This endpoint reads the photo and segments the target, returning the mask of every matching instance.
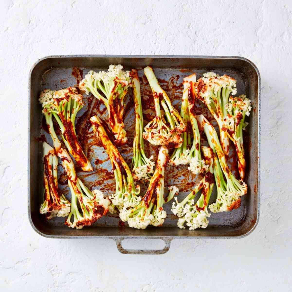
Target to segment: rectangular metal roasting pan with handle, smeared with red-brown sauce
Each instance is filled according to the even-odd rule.
[[[147,103],[147,95],[151,94],[149,85],[143,79],[142,68],[151,65],[161,85],[169,93],[174,105],[178,108],[182,94],[182,79],[195,72],[200,77],[204,72],[214,71],[218,74],[229,74],[237,79],[238,94],[246,94],[251,99],[253,111],[249,117],[248,148],[246,183],[248,193],[242,197],[241,207],[231,212],[212,214],[209,218],[209,226],[206,229],[190,231],[179,229],[177,218],[171,213],[171,203],[165,205],[168,216],[162,227],[148,227],[145,230],[137,230],[121,226],[118,216],[105,216],[91,227],[81,230],[68,228],[64,225],[64,218],[45,220],[39,213],[42,198],[42,161],[41,141],[46,139],[51,145],[49,135],[42,128],[41,105],[38,102],[39,93],[45,88],[60,89],[77,84],[90,70],[106,70],[110,64],[122,64],[124,68],[137,68],[141,77],[142,97],[144,105]],[[85,106],[78,113],[77,132],[85,131],[86,119],[90,114],[104,115],[103,110],[96,99],[84,98]],[[89,102],[88,102],[89,101]],[[143,108],[144,111],[144,108]],[[147,109],[145,110],[147,119]],[[133,137],[133,104],[128,98],[125,109],[125,128],[130,137]],[[257,67],[249,60],[242,57],[223,56],[123,56],[123,55],[67,55],[49,56],[38,60],[29,74],[29,114],[28,114],[28,215],[33,229],[48,238],[110,238],[117,243],[121,253],[131,254],[161,254],[168,251],[172,239],[178,238],[235,238],[244,237],[254,230],[259,218],[259,193],[260,193],[260,74]],[[87,131],[87,130],[86,130]],[[41,138],[40,138],[41,137]],[[109,175],[111,167],[104,150],[91,140],[83,141],[85,152],[94,166],[92,173],[78,171],[78,175],[91,189],[102,188],[105,194],[111,192],[114,180]],[[126,161],[131,161],[131,147],[120,149]],[[98,163],[96,163],[98,159]],[[107,172],[109,171],[109,172]],[[62,168],[60,166],[60,175]],[[168,168],[165,184],[176,183],[180,190],[180,197],[184,197],[192,190],[199,178],[190,175],[185,169]],[[107,187],[104,187],[106,184]],[[61,186],[65,195],[70,198],[67,186]],[[147,187],[147,186],[146,186]],[[216,189],[216,188],[214,188]],[[142,186],[141,193],[145,191]],[[211,201],[215,200],[216,190],[213,192]],[[121,241],[126,238],[155,238],[163,239],[165,247],[162,250],[126,250]]]

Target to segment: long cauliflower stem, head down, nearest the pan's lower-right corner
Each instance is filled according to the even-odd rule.
[[[209,208],[214,213],[231,211],[232,209],[239,208],[241,204],[240,197],[247,193],[247,185],[244,181],[237,180],[230,171],[215,128],[203,115],[198,115],[197,121],[199,122],[201,129],[204,130],[204,133],[206,134],[209,146],[212,148],[214,153],[217,153],[222,172],[226,179],[226,191],[224,193],[222,192],[225,189],[225,184],[223,184],[222,189],[218,190],[216,202],[211,204]],[[217,163],[215,162],[215,165],[216,164]],[[219,177],[218,182],[216,181],[217,186],[218,183],[222,183],[222,178],[220,177],[220,171],[218,168],[219,166],[215,168],[215,177],[217,180]]]

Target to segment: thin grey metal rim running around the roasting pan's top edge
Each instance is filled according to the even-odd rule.
[[[31,75],[34,70],[34,68],[42,61],[46,59],[51,58],[192,58],[192,59],[236,59],[236,60],[242,60],[247,63],[249,63],[253,69],[256,71],[257,77],[258,77],[258,186],[257,186],[257,217],[255,220],[255,223],[253,227],[248,230],[248,232],[241,234],[241,235],[234,235],[234,236],[185,236],[185,235],[171,235],[171,236],[165,236],[165,235],[48,235],[45,234],[34,225],[31,217],[31,205],[30,205],[30,132],[31,132],[31,119],[30,119],[30,113],[31,113],[31,105],[30,105],[30,96],[31,96]],[[119,239],[166,239],[168,241],[172,241],[173,239],[240,239],[248,236],[253,232],[257,225],[260,218],[260,113],[261,113],[261,78],[260,78],[260,72],[258,70],[258,67],[249,59],[241,57],[241,56],[211,56],[211,55],[91,55],[91,54],[81,54],[81,55],[47,55],[43,58],[39,58],[34,64],[32,65],[31,69],[29,70],[29,80],[28,80],[28,143],[27,143],[27,154],[28,154],[28,169],[27,169],[27,215],[29,219],[29,223],[32,226],[32,229],[39,235],[46,237],[46,238],[57,238],[57,239],[72,239],[72,238],[97,238],[97,239],[113,239],[118,244]]]

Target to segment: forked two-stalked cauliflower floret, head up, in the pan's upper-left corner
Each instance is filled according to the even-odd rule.
[[[84,171],[92,171],[92,166],[82,150],[75,131],[75,118],[83,106],[82,95],[77,94],[77,89],[74,87],[58,91],[45,89],[41,92],[39,101],[43,106],[46,124],[56,152],[60,150],[61,143],[55,133],[52,116],[58,122],[65,146],[78,166]]]

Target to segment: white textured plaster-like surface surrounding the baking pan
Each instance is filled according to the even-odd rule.
[[[1,1],[0,291],[291,291],[291,1],[87,2]],[[27,84],[33,63],[54,54],[252,60],[262,79],[256,230],[244,239],[174,240],[161,256],[36,234],[27,217]]]

